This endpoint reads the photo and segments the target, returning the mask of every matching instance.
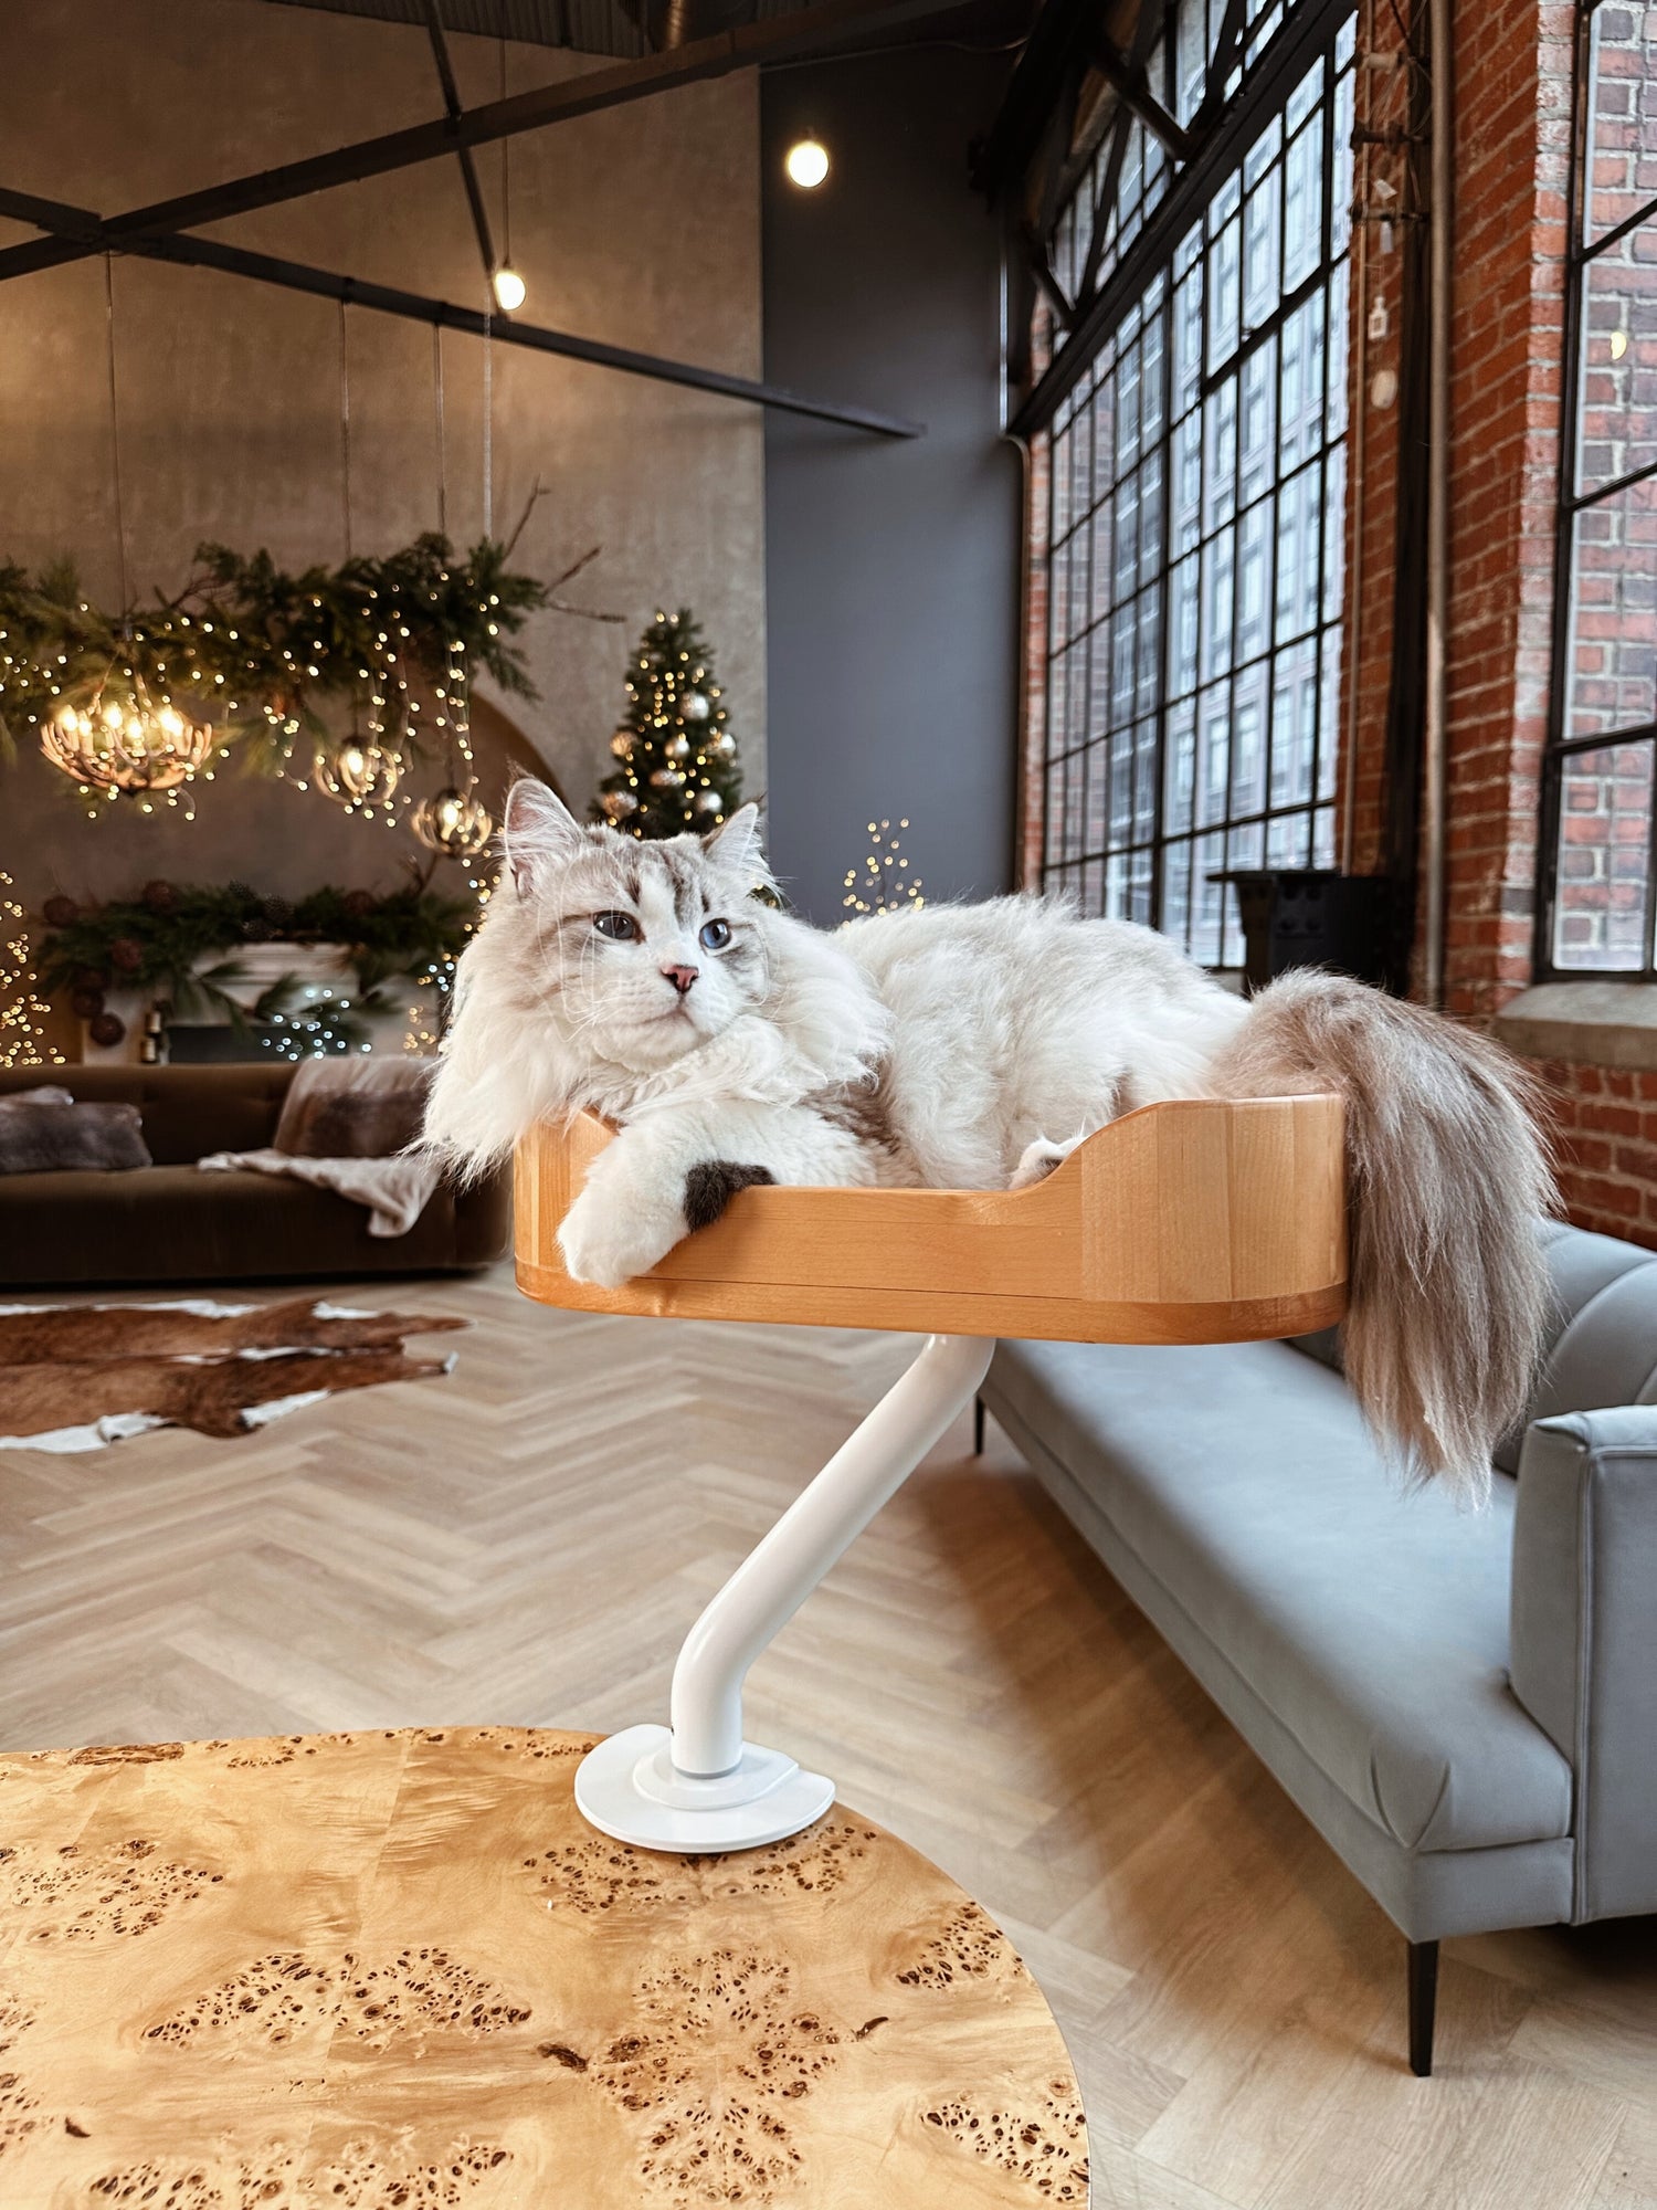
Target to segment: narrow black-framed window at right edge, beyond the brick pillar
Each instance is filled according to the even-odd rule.
[[[1538,966],[1657,979],[1657,13],[1577,9],[1575,113]]]

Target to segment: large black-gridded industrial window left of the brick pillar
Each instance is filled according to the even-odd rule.
[[[1056,223],[1036,365],[1080,343],[1054,301],[1116,276],[1120,312],[1052,413],[1032,526],[1043,880],[1237,966],[1217,877],[1334,857],[1354,20],[1255,7],[1213,86],[1222,13],[1169,9],[1144,66],[1178,124],[1204,73],[1211,110],[1259,104],[1231,166],[1195,155],[1182,203],[1133,119]],[[1136,248],[1158,265],[1120,298]]]

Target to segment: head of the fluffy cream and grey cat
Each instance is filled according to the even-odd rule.
[[[535,778],[506,800],[519,959],[566,1039],[638,1072],[672,1065],[758,1006],[769,884],[758,807],[663,842],[583,829]]]

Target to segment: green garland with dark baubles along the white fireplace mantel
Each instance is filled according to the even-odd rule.
[[[243,979],[236,964],[243,946],[331,944],[356,975],[356,1001],[285,975],[261,994],[252,1014],[294,1030],[285,1056],[356,1048],[362,1041],[360,1017],[387,1010],[389,981],[453,972],[477,913],[477,897],[437,897],[422,882],[384,895],[329,884],[300,899],[261,897],[241,882],[223,888],[148,882],[139,897],[102,906],[49,897],[44,919],[51,935],[40,944],[40,990],[68,990],[80,1019],[93,1023],[93,1039],[119,1043],[119,1014],[104,1003],[110,990],[152,992],[179,1012],[217,1012],[241,1023],[247,1008],[232,990]],[[203,966],[214,955],[223,955],[219,964]],[[104,1034],[97,1023],[104,1023]]]

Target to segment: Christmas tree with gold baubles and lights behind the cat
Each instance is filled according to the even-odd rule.
[[[627,712],[610,738],[619,767],[592,818],[632,835],[718,829],[742,798],[736,738],[714,663],[687,608],[656,614],[627,670]]]

